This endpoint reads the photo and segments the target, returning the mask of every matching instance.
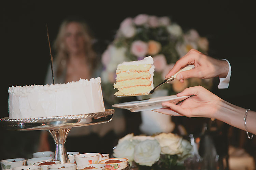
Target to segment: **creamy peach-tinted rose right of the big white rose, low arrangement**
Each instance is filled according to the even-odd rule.
[[[155,136],[161,146],[161,154],[175,155],[182,153],[182,137],[173,133],[161,133]]]

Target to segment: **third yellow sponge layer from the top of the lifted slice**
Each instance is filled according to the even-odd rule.
[[[117,88],[118,90],[120,88],[128,88],[134,86],[151,86],[151,81],[150,79],[131,79],[119,81],[114,84],[114,88]]]

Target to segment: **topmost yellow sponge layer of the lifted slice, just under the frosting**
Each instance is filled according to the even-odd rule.
[[[141,72],[145,72],[150,70],[150,68],[152,67],[151,64],[139,64],[139,65],[122,65],[117,67],[116,70],[116,74],[120,73],[120,72],[126,72],[126,71],[141,71]]]

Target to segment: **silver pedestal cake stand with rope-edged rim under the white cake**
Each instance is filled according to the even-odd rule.
[[[112,120],[113,114],[114,109],[106,109],[105,112],[69,116],[29,119],[9,119],[9,117],[4,117],[0,119],[0,124],[7,130],[48,131],[56,144],[54,160],[59,160],[61,163],[70,163],[65,147],[65,142],[70,129],[109,122]]]

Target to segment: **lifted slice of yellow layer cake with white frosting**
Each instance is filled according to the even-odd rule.
[[[115,96],[145,95],[153,88],[153,58],[145,57],[140,61],[124,62],[117,66]]]

